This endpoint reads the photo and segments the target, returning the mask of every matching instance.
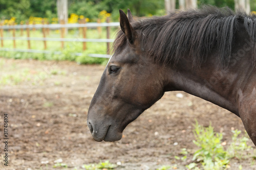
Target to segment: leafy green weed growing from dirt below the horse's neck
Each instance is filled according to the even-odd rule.
[[[196,124],[194,125],[194,135],[196,140],[193,142],[200,148],[194,153],[193,160],[201,162],[203,169],[227,169],[229,159],[236,156],[238,157],[239,151],[249,149],[246,144],[248,138],[243,136],[238,138],[241,131],[232,131],[232,142],[225,150],[222,143],[222,133],[215,133],[214,128],[210,125],[204,128]],[[198,169],[195,162],[186,166],[188,169]]]

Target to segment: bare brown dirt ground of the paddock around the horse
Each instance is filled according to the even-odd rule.
[[[223,132],[244,131],[241,119],[229,111],[184,92],[166,92],[163,98],[126,127],[116,142],[96,142],[86,119],[90,101],[104,66],[74,62],[0,58],[0,133],[8,114],[8,168],[5,143],[0,142],[0,169],[84,169],[82,165],[109,160],[115,169],[186,169],[198,149],[193,143],[195,119]],[[8,76],[9,75],[9,76]],[[2,78],[2,79],[1,79]],[[183,94],[178,98],[177,93]],[[256,169],[253,150],[232,159],[230,169]],[[185,161],[182,148],[188,151]],[[249,155],[249,156],[248,156]],[[61,161],[61,160],[62,161]],[[68,167],[53,167],[56,160]],[[55,161],[55,162],[54,162]]]

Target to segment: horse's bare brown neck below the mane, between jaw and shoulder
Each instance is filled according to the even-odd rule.
[[[170,70],[172,74],[169,76],[168,90],[185,91],[239,116],[239,93],[244,92],[248,81],[254,79],[250,76],[254,69],[238,58],[232,62],[225,69],[218,68],[217,62],[211,61],[201,68],[178,65]]]

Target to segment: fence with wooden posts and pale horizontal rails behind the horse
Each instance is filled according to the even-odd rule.
[[[109,58],[109,48],[110,43],[114,41],[114,39],[110,39],[110,28],[111,27],[118,27],[120,25],[119,22],[110,22],[110,18],[106,19],[106,22],[100,23],[100,22],[89,22],[86,23],[86,21],[80,20],[79,23],[69,23],[64,24],[63,22],[60,22],[59,24],[44,24],[44,21],[42,21],[42,24],[33,24],[29,25],[27,22],[26,25],[10,25],[10,26],[3,26],[0,23],[0,40],[1,40],[1,47],[0,51],[14,51],[14,52],[27,52],[27,53],[44,53],[44,54],[50,54],[51,51],[47,51],[47,41],[59,41],[61,44],[61,48],[64,48],[64,42],[82,42],[82,50],[87,49],[87,42],[100,42],[100,43],[106,43],[107,45],[107,51],[106,54],[89,54],[90,57],[101,57],[101,58]],[[89,39],[87,38],[87,28],[97,28],[97,30],[100,32],[102,27],[106,27],[106,38],[105,39]],[[66,29],[76,29],[78,28],[80,32],[82,33],[82,38],[65,38],[65,30]],[[20,35],[23,36],[24,31],[27,32],[26,37],[17,37],[16,36],[16,30],[20,30]],[[31,30],[41,29],[42,30],[42,37],[30,37]],[[60,38],[50,38],[47,37],[49,35],[49,30],[60,30]],[[12,31],[12,37],[5,37],[4,36],[4,30]],[[12,40],[13,41],[13,48],[4,48],[4,40]],[[27,49],[18,49],[16,48],[16,40],[23,40],[27,41],[28,47]],[[30,41],[43,41],[44,42],[44,50],[33,50],[31,49],[31,42]],[[53,52],[54,54],[61,54],[60,51]],[[82,53],[75,53],[75,55],[80,56]]]

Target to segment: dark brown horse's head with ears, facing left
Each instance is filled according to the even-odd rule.
[[[120,10],[124,39],[106,65],[88,111],[96,141],[120,140],[124,128],[164,93],[164,72],[141,45],[130,10],[127,16]]]

